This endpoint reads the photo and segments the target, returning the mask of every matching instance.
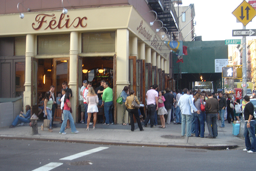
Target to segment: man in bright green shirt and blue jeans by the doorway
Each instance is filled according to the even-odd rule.
[[[104,114],[106,121],[104,125],[114,124],[113,121],[113,90],[109,87],[109,83],[104,83],[104,91],[102,94],[102,105],[104,105]]]

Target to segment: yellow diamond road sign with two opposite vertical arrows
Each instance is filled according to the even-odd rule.
[[[246,26],[256,15],[256,10],[245,0],[232,12]]]

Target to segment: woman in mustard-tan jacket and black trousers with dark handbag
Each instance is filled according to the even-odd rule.
[[[135,101],[135,103],[137,103],[138,105],[140,104],[137,96],[135,96],[134,93],[135,93],[134,90],[130,90],[130,96],[128,96],[125,101],[125,106],[127,107],[127,111],[130,116],[131,131],[134,131],[133,115],[136,118],[137,124],[139,126],[139,130],[144,131],[141,125],[141,120],[139,119],[138,108],[132,107],[132,103],[134,103],[133,101]]]

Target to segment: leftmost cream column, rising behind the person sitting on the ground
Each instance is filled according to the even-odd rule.
[[[26,35],[26,61],[25,61],[25,91],[23,93],[23,106],[31,105],[31,59],[35,56],[35,36],[32,34]],[[36,73],[37,74],[37,73]],[[25,110],[24,110],[25,111]]]

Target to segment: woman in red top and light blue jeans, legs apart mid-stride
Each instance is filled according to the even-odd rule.
[[[65,127],[68,119],[70,121],[71,133],[77,134],[79,132],[75,128],[74,119],[70,113],[70,108],[71,108],[70,97],[71,97],[71,94],[70,92],[67,91],[64,98],[64,108],[63,108],[64,118],[63,118],[62,125],[60,127],[60,134],[66,134],[66,132],[64,131],[65,131]]]

